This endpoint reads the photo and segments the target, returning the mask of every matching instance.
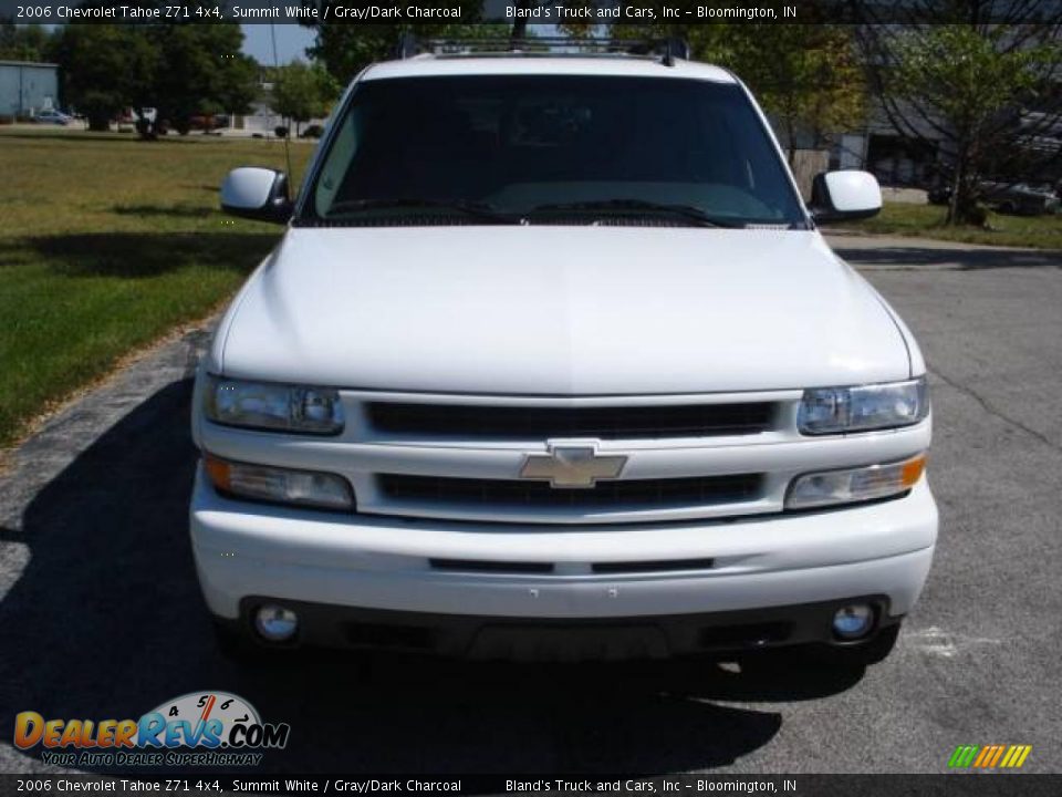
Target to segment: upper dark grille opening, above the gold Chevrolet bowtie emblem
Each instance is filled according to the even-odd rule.
[[[773,402],[664,406],[479,406],[369,402],[377,432],[464,439],[637,439],[751,435],[771,427]]]

